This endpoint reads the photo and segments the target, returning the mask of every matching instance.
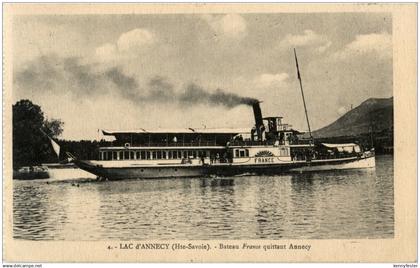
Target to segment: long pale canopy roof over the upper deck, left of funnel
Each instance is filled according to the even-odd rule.
[[[121,134],[247,134],[249,129],[231,129],[231,128],[180,128],[180,129],[136,129],[136,130],[102,130],[103,135],[121,135]]]

